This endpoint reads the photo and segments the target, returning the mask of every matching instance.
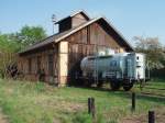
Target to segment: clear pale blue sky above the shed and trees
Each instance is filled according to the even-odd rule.
[[[106,16],[130,43],[134,36],[150,36],[165,44],[165,0],[0,0],[0,32],[40,25],[52,35],[52,14],[61,20],[78,10]]]

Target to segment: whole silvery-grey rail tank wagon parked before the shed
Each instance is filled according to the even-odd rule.
[[[87,56],[81,60],[84,81],[90,86],[97,81],[101,87],[110,82],[112,90],[123,87],[130,90],[136,81],[145,80],[145,55],[142,53],[120,53],[107,56]]]

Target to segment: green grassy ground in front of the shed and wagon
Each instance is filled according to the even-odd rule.
[[[96,99],[97,123],[141,123],[155,110],[157,123],[165,119],[165,80],[155,79],[141,91],[136,85],[136,110],[131,112],[131,91],[57,88],[43,82],[0,79],[0,107],[11,123],[91,123],[87,99]],[[152,94],[150,94],[152,93]],[[131,122],[132,121],[132,122]]]

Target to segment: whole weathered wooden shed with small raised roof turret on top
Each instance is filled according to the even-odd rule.
[[[65,86],[80,76],[80,60],[98,51],[133,52],[128,41],[100,16],[84,11],[56,22],[58,33],[19,53],[19,70],[25,79]]]

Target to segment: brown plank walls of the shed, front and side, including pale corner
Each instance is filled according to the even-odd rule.
[[[19,70],[23,72],[25,79],[32,81],[41,79],[38,74],[41,69],[44,70],[43,81],[58,83],[58,86],[78,82],[75,80],[81,75],[80,62],[85,56],[96,55],[98,51],[108,48],[116,53],[125,52],[127,47],[122,47],[123,45],[121,46],[114,37],[105,31],[101,24],[94,22],[57,43],[52,37],[54,42],[50,45],[23,54],[19,60]],[[53,60],[50,58],[51,55]],[[52,62],[53,69],[50,66]],[[54,70],[53,75],[48,68]]]

